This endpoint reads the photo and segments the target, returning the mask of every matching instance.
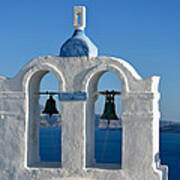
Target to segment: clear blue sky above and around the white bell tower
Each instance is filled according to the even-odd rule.
[[[122,57],[143,78],[161,76],[162,117],[180,121],[179,0],[1,0],[0,75],[13,77],[35,57],[58,55],[73,33],[76,5],[87,8],[86,34],[99,55]]]

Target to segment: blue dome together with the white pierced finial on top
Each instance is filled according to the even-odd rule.
[[[96,57],[98,50],[85,35],[86,9],[83,6],[74,7],[74,34],[61,47],[61,57]]]

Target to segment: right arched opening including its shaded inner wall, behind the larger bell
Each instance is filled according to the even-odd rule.
[[[106,90],[118,92],[122,90],[120,78],[108,70],[96,73],[88,85],[86,167],[120,169],[122,161],[122,103],[120,96],[115,96],[115,111],[119,120],[117,122],[110,120],[110,126],[107,128],[107,120],[100,119],[105,107],[105,97],[94,95],[96,92]]]

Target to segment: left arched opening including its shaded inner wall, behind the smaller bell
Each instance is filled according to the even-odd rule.
[[[48,115],[43,114],[46,95],[37,92],[60,91],[57,75],[47,70],[35,72],[28,84],[28,113],[27,113],[27,145],[26,166],[28,167],[60,167],[61,166],[61,117],[52,115],[52,123]],[[61,106],[57,97],[56,107],[60,112]]]

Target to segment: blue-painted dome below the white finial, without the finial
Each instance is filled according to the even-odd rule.
[[[83,30],[75,30],[73,36],[61,47],[61,57],[97,56],[97,48]]]

